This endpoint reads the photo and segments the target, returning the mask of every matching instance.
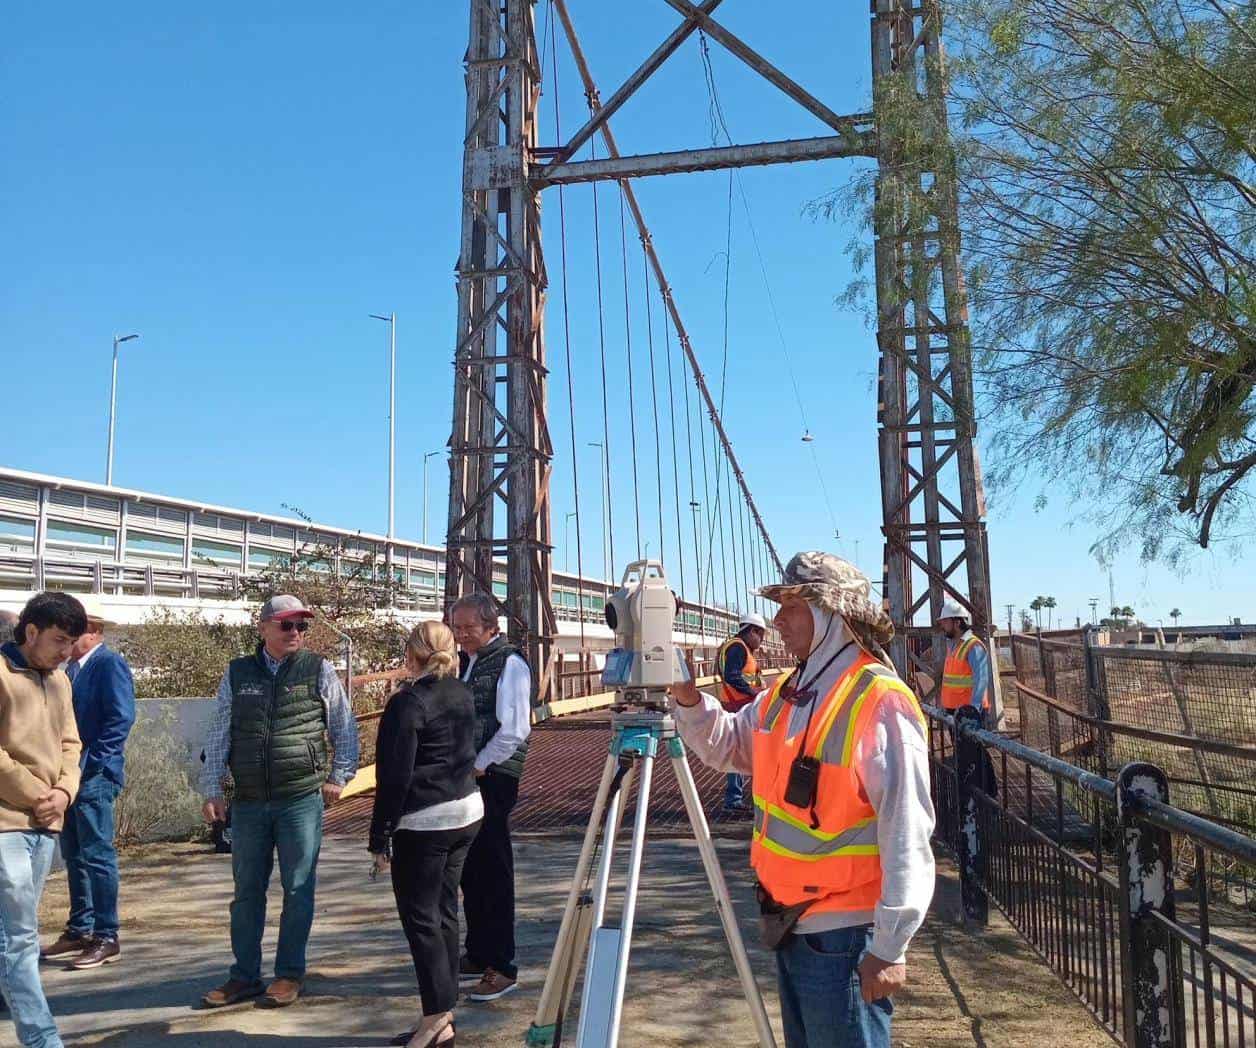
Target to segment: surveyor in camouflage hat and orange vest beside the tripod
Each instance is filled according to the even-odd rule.
[[[858,568],[799,553],[774,623],[798,669],[736,714],[692,682],[673,714],[706,764],[752,772],[750,862],[786,1048],[889,1048],[891,996],[933,897],[924,718]]]

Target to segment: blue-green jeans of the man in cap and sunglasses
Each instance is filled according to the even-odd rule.
[[[236,800],[231,805],[231,978],[261,980],[266,888],[279,851],[284,910],[279,917],[275,978],[305,975],[305,944],[314,924],[314,875],[323,843],[323,793],[291,800]]]

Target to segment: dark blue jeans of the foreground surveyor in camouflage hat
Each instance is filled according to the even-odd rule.
[[[889,998],[865,1004],[859,959],[872,925],[795,935],[776,951],[785,1048],[889,1048]]]

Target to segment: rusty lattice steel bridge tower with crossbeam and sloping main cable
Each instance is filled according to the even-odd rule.
[[[884,200],[893,201],[911,187],[943,202],[937,209],[942,219],[927,227],[908,227],[893,209],[879,207],[875,230],[885,596],[902,631],[893,651],[896,662],[904,672],[913,665],[924,667],[926,606],[934,612],[943,594],[955,596],[972,609],[980,632],[987,633],[990,623],[953,182],[946,172],[904,166],[902,145],[877,133],[872,113],[839,116],[717,23],[712,11],[722,0],[666,3],[682,21],[603,102],[566,0],[553,0],[583,79],[589,116],[566,142],[544,148],[536,123],[541,68],[534,0],[470,3],[446,599],[471,591],[492,593],[494,560],[505,559],[506,597],[501,604],[509,631],[529,652],[541,696],[549,692],[556,628],[550,603],[553,446],[546,425],[546,275],[540,194],[546,186],[561,183],[609,180],[623,188],[723,454],[765,548],[780,567],[698,367],[632,180],[804,160],[875,157]],[[923,6],[908,0],[874,0],[873,69],[878,83],[889,77],[911,83],[929,101],[933,119],[945,121],[939,19],[936,0],[924,0]],[[698,30],[808,111],[824,133],[815,138],[622,156],[610,118]],[[574,160],[594,134],[603,141],[605,158]],[[923,292],[911,290],[922,285],[926,268],[939,274],[941,293],[932,280],[923,280]],[[495,514],[499,503],[505,508],[504,521]],[[917,547],[923,547],[923,555]],[[952,554],[955,547],[958,552]],[[922,591],[919,597],[914,596],[917,589]]]

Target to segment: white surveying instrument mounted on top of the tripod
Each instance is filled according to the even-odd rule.
[[[607,625],[615,647],[607,655],[602,682],[615,690],[615,707],[667,709],[667,689],[690,679],[672,642],[676,594],[658,560],[633,560],[607,601]]]

